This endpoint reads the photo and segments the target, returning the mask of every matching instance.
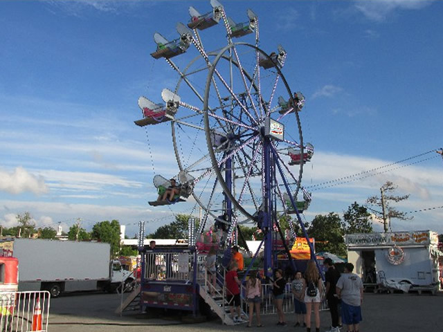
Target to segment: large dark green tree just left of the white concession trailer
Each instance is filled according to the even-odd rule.
[[[307,229],[309,237],[314,237],[316,252],[327,251],[336,255],[346,255],[346,245],[340,216],[329,212],[327,216],[316,215]]]

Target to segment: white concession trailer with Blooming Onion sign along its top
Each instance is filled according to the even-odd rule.
[[[430,230],[347,234],[347,261],[363,283],[409,291],[440,284],[438,234]],[[440,269],[439,269],[440,268]]]

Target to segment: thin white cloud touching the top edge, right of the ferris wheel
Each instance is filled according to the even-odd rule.
[[[355,1],[354,7],[372,21],[384,21],[396,10],[418,10],[433,1],[426,0],[372,0]]]

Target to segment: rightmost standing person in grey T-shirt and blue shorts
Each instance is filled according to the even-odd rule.
[[[363,303],[363,282],[352,273],[354,265],[345,264],[345,272],[338,279],[336,293],[341,299],[341,321],[347,325],[348,332],[359,332],[361,304]]]

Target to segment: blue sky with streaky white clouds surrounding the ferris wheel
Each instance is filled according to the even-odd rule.
[[[315,154],[302,183],[316,185],[307,221],[365,203],[386,181],[410,194],[398,210],[443,205],[443,160],[431,151],[443,146],[441,1],[223,4],[235,21],[254,10],[260,47],[284,46],[284,76],[306,97],[303,139]],[[139,96],[160,102],[161,90],[177,84],[177,73],[150,56],[152,35],[176,38],[188,6],[210,10],[209,1],[0,2],[1,225],[29,211],[37,226],[61,222],[66,231],[79,217],[87,230],[118,219],[133,236],[140,220],[152,232],[174,213],[197,213],[192,203],[147,205],[156,198],[154,174],[175,176],[178,167],[169,124],[134,125]],[[201,32],[212,49],[226,46],[225,35],[221,24]],[[177,64],[191,54],[192,47]],[[392,230],[443,232],[441,208],[410,216],[393,219]]]

